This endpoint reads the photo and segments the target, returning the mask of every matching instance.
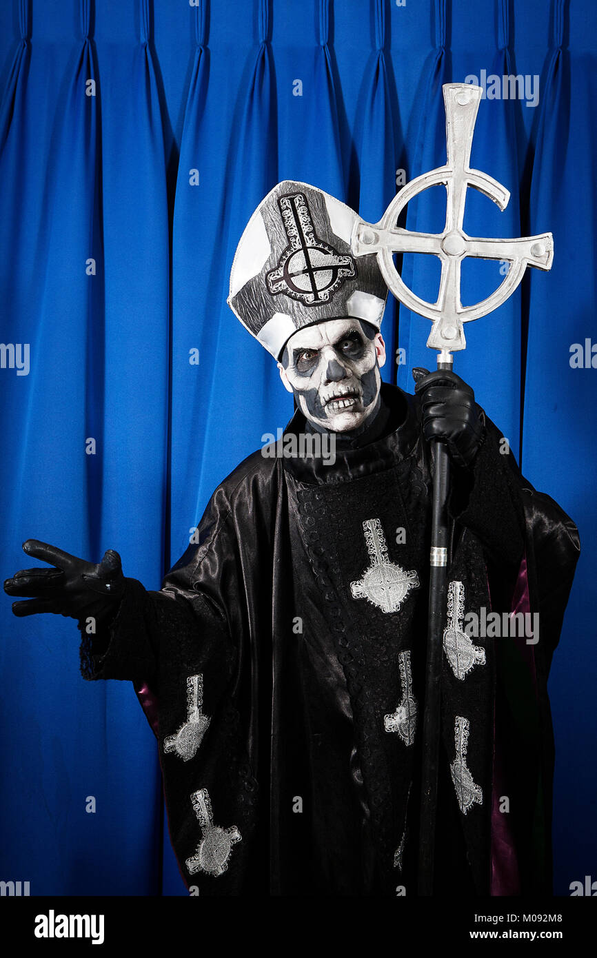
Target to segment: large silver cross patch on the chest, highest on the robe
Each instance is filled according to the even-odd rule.
[[[379,519],[365,519],[363,532],[371,565],[360,581],[351,582],[353,599],[367,599],[382,612],[399,612],[410,590],[419,586],[419,577],[414,569],[405,572],[390,562]]]

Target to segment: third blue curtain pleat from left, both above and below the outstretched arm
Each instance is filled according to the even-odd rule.
[[[125,575],[158,588],[167,519],[170,239],[160,81],[149,0],[139,0],[132,57],[103,70],[103,450],[100,538],[117,548]],[[123,158],[126,157],[126,162]],[[123,417],[126,409],[126,417]],[[149,727],[132,690],[107,683],[106,782],[122,789],[126,867],[119,884],[159,894],[162,792]],[[96,733],[97,735],[97,733]],[[139,850],[143,854],[139,854]],[[143,891],[141,890],[143,889]]]

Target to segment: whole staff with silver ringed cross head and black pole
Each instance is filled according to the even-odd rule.
[[[467,343],[463,323],[484,316],[501,306],[517,288],[527,266],[551,269],[553,238],[551,233],[525,239],[479,239],[463,230],[467,190],[474,187],[489,196],[504,210],[510,194],[487,173],[471,170],[474,124],[481,100],[481,87],[468,83],[447,83],[443,87],[446,106],[447,161],[408,183],[395,196],[379,223],[357,219],[351,237],[353,254],[377,254],[379,269],[391,292],[404,306],[426,316],[433,323],[427,340],[429,349],[438,350],[437,367],[448,371],[452,353],[464,350]],[[417,233],[397,226],[406,204],[430,186],[443,183],[447,191],[446,223],[443,233]],[[403,282],[393,253],[426,253],[437,256],[442,264],[440,290],[435,303],[416,296]],[[487,299],[463,307],[460,294],[461,264],[467,256],[509,262],[504,281]],[[425,675],[425,717],[421,773],[421,815],[419,833],[419,895],[433,894],[435,853],[435,817],[440,741],[440,701],[444,613],[448,566],[449,463],[445,442],[435,441],[433,449],[433,510],[431,514],[431,552],[429,557],[429,604],[427,659]],[[449,647],[448,647],[449,651]],[[480,659],[478,660],[480,663]],[[462,676],[459,676],[462,677]],[[465,719],[463,719],[464,721]],[[464,768],[464,765],[463,765]],[[466,776],[461,776],[463,782]],[[471,794],[476,795],[474,791]],[[474,798],[478,801],[478,798]]]

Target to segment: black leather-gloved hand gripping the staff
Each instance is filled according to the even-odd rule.
[[[485,439],[483,412],[474,401],[471,386],[445,370],[429,373],[415,367],[412,374],[415,394],[421,397],[425,439],[443,439],[457,466],[471,466]]]

